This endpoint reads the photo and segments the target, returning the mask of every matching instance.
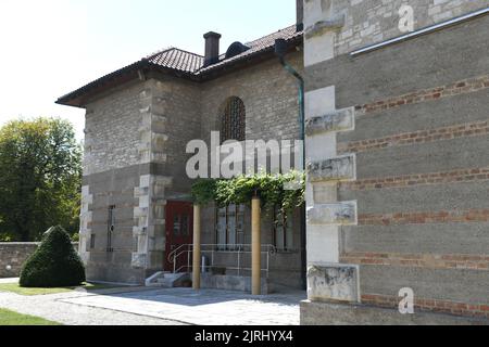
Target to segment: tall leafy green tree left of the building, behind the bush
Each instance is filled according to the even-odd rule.
[[[39,241],[79,224],[82,149],[65,120],[13,120],[0,129],[0,236]]]

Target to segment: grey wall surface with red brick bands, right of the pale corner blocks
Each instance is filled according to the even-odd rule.
[[[376,56],[386,62],[393,51],[426,54],[424,48],[438,42],[435,59],[446,67],[442,80],[430,78],[428,56],[401,74],[423,79],[403,78],[408,93],[393,87],[387,70],[362,76],[371,86],[384,78],[386,89],[367,89],[375,98],[366,103],[363,92],[365,99],[355,106],[356,129],[338,137],[338,151],[356,154],[356,180],[339,185],[340,198],[356,200],[359,206],[358,227],[342,229],[340,261],[360,266],[364,304],[396,308],[397,291],[411,287],[417,310],[488,318],[489,163],[484,149],[489,132],[484,110],[489,83],[482,66],[457,56],[463,37],[482,40],[488,21],[387,48]],[[440,44],[449,39],[450,48]],[[488,46],[472,43],[463,54],[489,67],[484,57]],[[368,60],[355,63],[363,61],[368,69]],[[336,86],[340,98],[348,98],[350,82]],[[354,97],[350,100],[355,104]]]

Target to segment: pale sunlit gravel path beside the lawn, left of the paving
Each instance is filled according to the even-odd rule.
[[[21,296],[0,292],[0,307],[65,325],[183,325],[180,322],[60,301],[97,296],[84,292]]]

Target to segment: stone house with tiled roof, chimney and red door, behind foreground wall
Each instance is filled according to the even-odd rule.
[[[185,245],[192,243],[192,181],[186,146],[191,140],[210,144],[211,131],[221,131],[223,140],[300,138],[297,81],[274,46],[285,39],[288,63],[302,72],[302,31],[293,25],[235,42],[225,54],[220,38],[204,35],[204,56],[171,48],[58,101],[86,108],[79,252],[88,279],[143,284],[160,271],[189,270]],[[263,219],[263,275],[277,288],[302,287],[304,245],[296,215],[287,226]],[[208,207],[202,217],[208,266],[227,269],[237,281],[229,285],[247,288],[249,208]]]

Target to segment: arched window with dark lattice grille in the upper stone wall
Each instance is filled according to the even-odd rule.
[[[246,140],[246,110],[244,103],[237,97],[229,98],[221,116],[222,141]]]

